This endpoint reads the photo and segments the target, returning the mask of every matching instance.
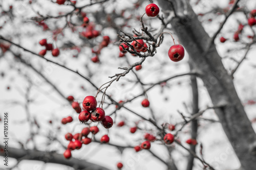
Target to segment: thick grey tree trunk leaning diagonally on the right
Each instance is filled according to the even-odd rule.
[[[178,6],[181,7],[181,1],[176,1],[177,4],[175,1],[172,2],[178,15],[170,23],[193,60],[212,103],[215,106],[226,105],[215,111],[242,167],[246,170],[254,169],[256,167],[256,135],[234,88],[232,78],[224,68],[215,44],[212,44],[204,55],[210,37],[190,5],[183,4],[182,7],[186,9],[182,9],[178,8]],[[159,1],[159,4],[162,9],[172,9],[169,2]]]

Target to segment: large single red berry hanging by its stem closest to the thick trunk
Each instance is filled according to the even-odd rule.
[[[182,60],[184,57],[183,46],[180,44],[171,46],[168,51],[168,56],[169,56],[170,60],[175,61],[175,62]]]

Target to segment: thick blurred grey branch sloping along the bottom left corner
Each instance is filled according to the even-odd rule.
[[[4,146],[0,145],[0,148],[4,148]],[[5,152],[0,153],[1,156],[4,154]],[[46,163],[50,162],[63,164],[74,167],[75,169],[109,170],[108,168],[87,162],[85,160],[76,158],[65,159],[63,155],[57,153],[47,153],[37,150],[24,150],[9,147],[8,154],[9,157],[15,158],[17,160],[39,160]]]

